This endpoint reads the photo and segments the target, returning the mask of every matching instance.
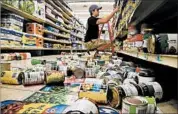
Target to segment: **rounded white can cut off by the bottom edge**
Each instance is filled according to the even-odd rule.
[[[99,109],[93,102],[87,99],[79,99],[72,105],[68,106],[62,113],[99,114]]]

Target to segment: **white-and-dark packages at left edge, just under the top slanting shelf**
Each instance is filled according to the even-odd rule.
[[[2,13],[1,27],[5,27],[12,30],[23,31],[24,18],[13,13]]]

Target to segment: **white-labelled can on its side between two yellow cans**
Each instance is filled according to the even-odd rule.
[[[23,72],[23,85],[43,84],[45,72]]]

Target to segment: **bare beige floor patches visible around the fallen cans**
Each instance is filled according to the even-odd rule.
[[[44,57],[36,57],[38,59],[46,59],[46,60],[55,60],[57,56],[44,56]],[[19,67],[30,67],[31,60],[22,60],[22,61],[12,61],[12,66]],[[31,96],[33,93],[39,91],[45,85],[35,85],[35,86],[27,86],[23,85],[5,85],[0,84],[0,100],[19,100],[22,101],[27,97]],[[169,102],[159,103],[158,107],[163,113],[178,113],[177,103],[172,100]]]

